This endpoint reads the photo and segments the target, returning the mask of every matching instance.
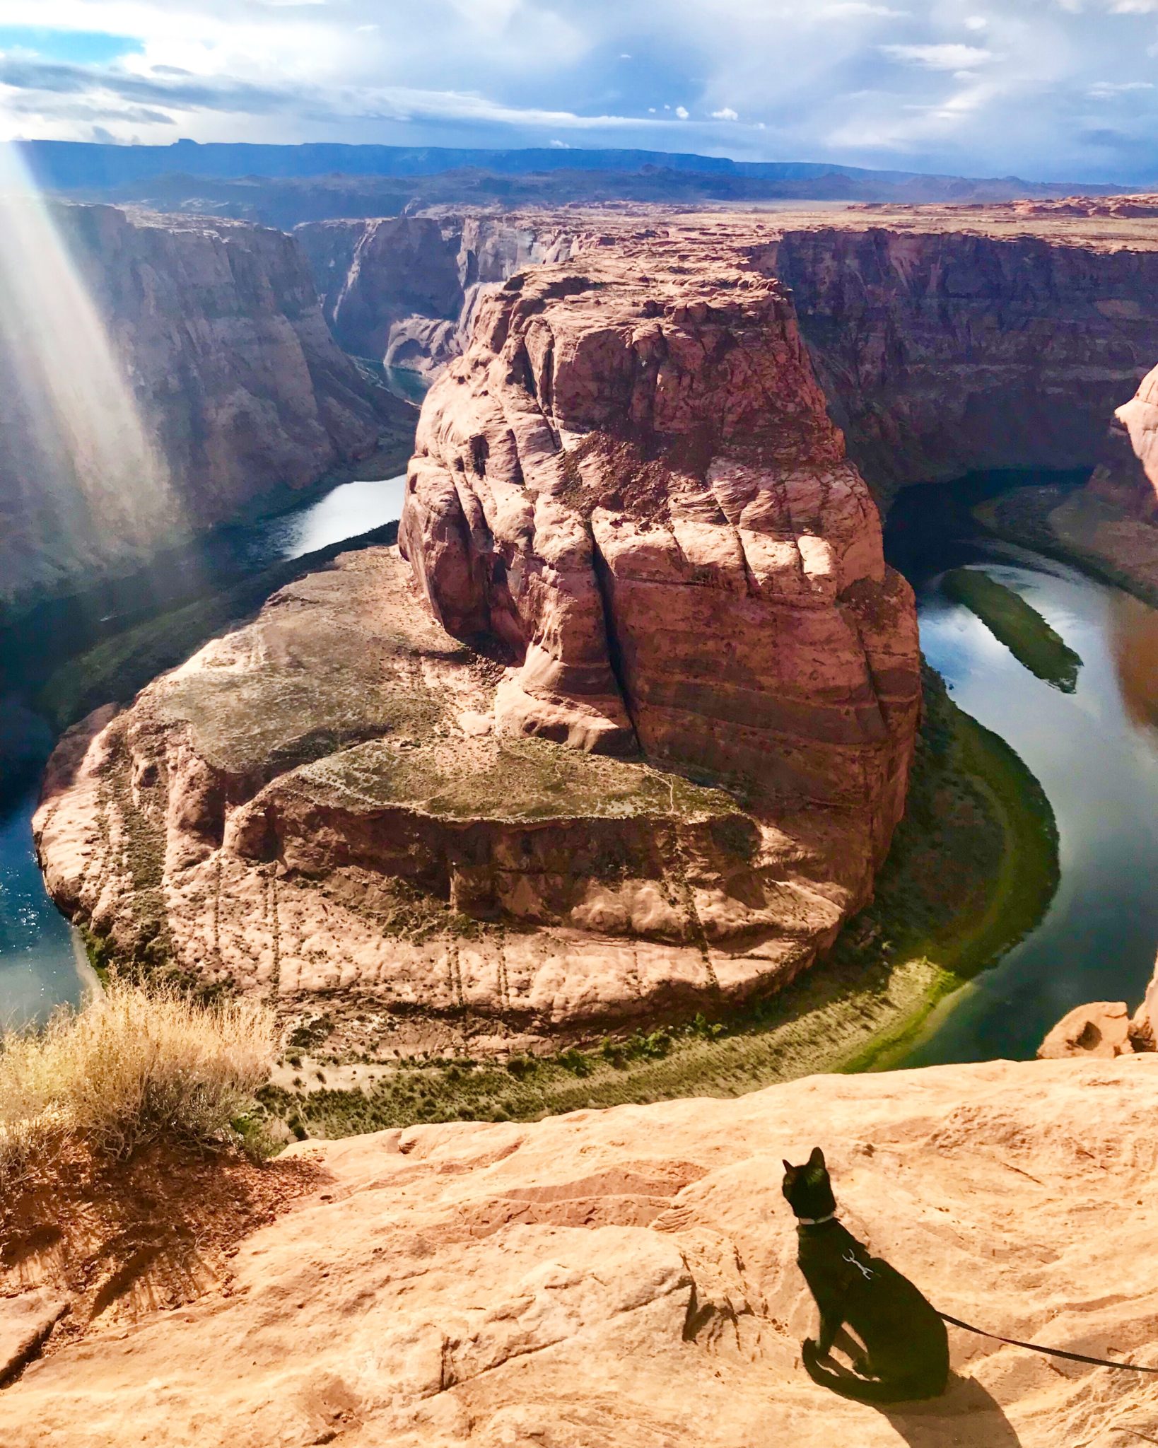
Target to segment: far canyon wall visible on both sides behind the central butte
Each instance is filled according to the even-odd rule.
[[[792,209],[735,229],[790,288],[832,417],[886,498],[979,468],[1094,465],[1106,417],[1158,355],[1152,206],[1126,201]],[[469,333],[472,275],[618,245],[640,214],[659,235],[690,220],[431,211],[297,235],[343,346],[431,376]]]

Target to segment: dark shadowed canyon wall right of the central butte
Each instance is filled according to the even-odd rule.
[[[1093,224],[1093,223],[1087,223]],[[874,489],[981,468],[1093,466],[1158,355],[1158,252],[960,229],[786,230],[816,374]],[[976,227],[976,230],[974,230]],[[1152,242],[1151,242],[1152,245]]]

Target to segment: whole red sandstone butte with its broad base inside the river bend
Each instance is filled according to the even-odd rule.
[[[400,540],[417,588],[352,555],[62,741],[35,831],[74,919],[479,1048],[832,943],[903,809],[916,618],[758,237],[488,292]]]

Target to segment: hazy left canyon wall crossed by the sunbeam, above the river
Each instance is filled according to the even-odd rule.
[[[0,320],[0,601],[139,563],[405,437],[262,227],[20,204]]]

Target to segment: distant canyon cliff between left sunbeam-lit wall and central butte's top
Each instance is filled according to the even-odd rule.
[[[485,288],[566,261],[580,240],[550,220],[439,211],[307,222],[294,235],[342,346],[423,376],[462,352]]]

